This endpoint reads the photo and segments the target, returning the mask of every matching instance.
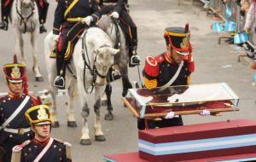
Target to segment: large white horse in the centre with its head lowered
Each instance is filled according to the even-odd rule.
[[[55,59],[50,59],[49,55],[53,48],[53,33],[49,32],[44,39],[45,60],[47,63],[49,73],[49,83],[53,90],[53,107],[55,123],[57,120],[56,113],[56,93],[57,89],[53,86],[56,77]],[[86,46],[86,47],[85,47]],[[69,95],[69,104],[67,108],[68,126],[76,126],[73,115],[73,103],[75,99],[79,99],[82,107],[83,129],[80,143],[82,145],[90,145],[90,136],[88,130],[87,118],[90,113],[88,107],[88,90],[94,86],[95,89],[95,104],[94,112],[96,113],[94,128],[96,130],[96,141],[105,141],[105,136],[102,132],[100,122],[100,107],[102,100],[102,93],[106,85],[106,75],[109,67],[113,64],[113,55],[119,52],[118,49],[112,48],[113,43],[108,37],[107,33],[103,32],[98,27],[90,27],[84,34],[83,38],[79,38],[78,43],[73,50],[73,57],[68,65],[72,72],[67,70],[66,73],[66,87]],[[84,54],[83,54],[84,53]],[[88,66],[87,66],[87,65]],[[74,75],[75,77],[74,77]],[[77,93],[79,91],[79,94]]]

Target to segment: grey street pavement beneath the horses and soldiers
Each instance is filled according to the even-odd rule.
[[[191,43],[193,45],[193,55],[195,60],[195,72],[191,75],[192,84],[210,84],[225,82],[240,97],[240,111],[232,113],[222,113],[221,116],[201,117],[200,115],[183,116],[184,124],[198,124],[213,121],[224,121],[228,119],[255,119],[256,110],[256,87],[252,85],[253,71],[245,60],[237,62],[237,53],[230,52],[237,50],[236,45],[229,43],[218,44],[218,35],[210,29],[213,22],[212,16],[207,16],[205,12],[198,12],[203,4],[195,2],[191,4],[190,0],[181,1],[178,5],[177,0],[129,0],[130,13],[137,23],[138,49],[137,53],[141,56],[143,69],[144,60],[147,55],[159,55],[166,49],[163,38],[164,29],[167,26],[184,26],[189,23],[191,34]],[[49,14],[46,26],[51,30],[54,20],[54,10],[56,3],[50,1]],[[14,32],[9,26],[8,32],[0,32],[0,64],[9,63],[15,53]],[[46,34],[40,34],[38,37],[39,66],[44,76],[44,82],[34,81],[32,73],[32,56],[30,39],[28,35],[25,38],[25,51],[27,56],[27,75],[29,90],[38,91],[49,88],[47,71],[44,61],[44,37]],[[129,68],[131,82],[139,80],[137,67]],[[6,92],[5,78],[3,72],[0,72],[0,90]],[[90,118],[90,137],[92,143],[90,146],[79,144],[81,136],[81,107],[79,103],[75,107],[75,115],[78,122],[77,128],[67,128],[67,95],[58,97],[58,115],[61,124],[60,128],[52,130],[52,136],[60,138],[63,141],[70,142],[73,145],[72,154],[75,162],[100,162],[103,161],[103,155],[113,153],[125,153],[137,151],[137,119],[134,118],[121,100],[122,84],[116,81],[113,84],[113,121],[105,121],[102,118],[102,130],[107,138],[106,142],[94,141],[93,130],[93,96],[89,96]],[[102,107],[102,117],[107,113],[106,107]]]

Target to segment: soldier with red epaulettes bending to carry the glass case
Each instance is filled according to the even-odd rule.
[[[144,86],[148,89],[161,86],[187,85],[194,72],[192,46],[189,43],[189,25],[167,27],[165,30],[166,52],[155,57],[148,56],[143,70]],[[183,125],[181,116],[173,112],[161,120],[138,119],[138,129]]]

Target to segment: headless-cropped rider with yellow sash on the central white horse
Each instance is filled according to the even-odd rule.
[[[84,29],[88,26],[94,25],[101,17],[102,14],[95,0],[58,1],[57,8],[55,9],[55,20],[53,25],[54,39],[57,40],[59,38],[56,50],[57,77],[55,78],[55,87],[65,89],[66,62],[64,61],[64,56],[66,55],[67,48],[69,49],[71,46],[74,46],[74,43],[78,40],[77,36],[83,33]],[[81,21],[86,26],[84,28],[82,26],[82,30],[78,29],[71,32],[73,26]],[[78,23],[78,26],[76,27],[79,27],[80,25],[81,23]],[[74,38],[69,40],[67,38],[67,33],[70,35],[73,33]]]

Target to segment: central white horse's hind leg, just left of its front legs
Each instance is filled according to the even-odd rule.
[[[73,78],[72,78],[73,79]],[[70,103],[67,107],[67,126],[68,127],[77,127],[76,120],[74,118],[73,103],[77,96],[77,82],[76,80],[71,82],[71,86],[68,88],[68,96]]]

